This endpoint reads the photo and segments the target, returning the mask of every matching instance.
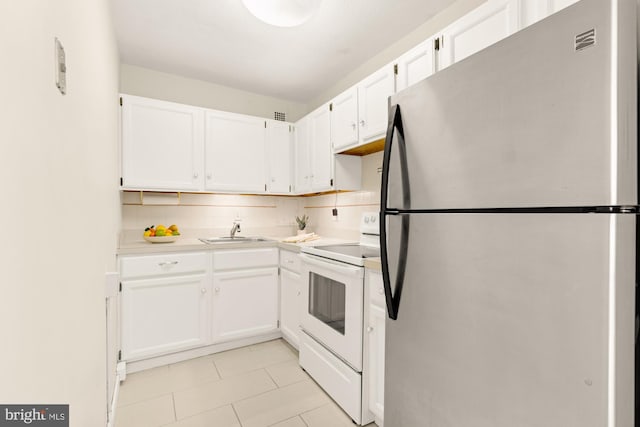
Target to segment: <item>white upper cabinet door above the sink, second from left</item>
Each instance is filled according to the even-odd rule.
[[[258,117],[207,111],[206,190],[266,191],[265,127]]]

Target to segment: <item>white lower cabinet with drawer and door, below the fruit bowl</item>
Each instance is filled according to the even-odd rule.
[[[123,360],[208,344],[211,277],[206,260],[206,254],[198,253],[139,256],[121,262]],[[144,271],[139,265],[148,268]]]

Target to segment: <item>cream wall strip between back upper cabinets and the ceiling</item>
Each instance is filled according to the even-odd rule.
[[[286,113],[290,122],[302,117],[307,109],[304,104],[128,64],[120,66],[120,90],[129,95],[268,119],[278,111]]]

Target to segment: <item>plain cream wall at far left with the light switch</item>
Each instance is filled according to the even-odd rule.
[[[0,36],[0,402],[68,403],[71,426],[104,426],[104,273],[119,229],[109,1],[3,1]]]

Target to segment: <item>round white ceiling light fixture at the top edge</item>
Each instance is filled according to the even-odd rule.
[[[242,0],[256,18],[277,27],[296,27],[307,22],[322,0]]]

